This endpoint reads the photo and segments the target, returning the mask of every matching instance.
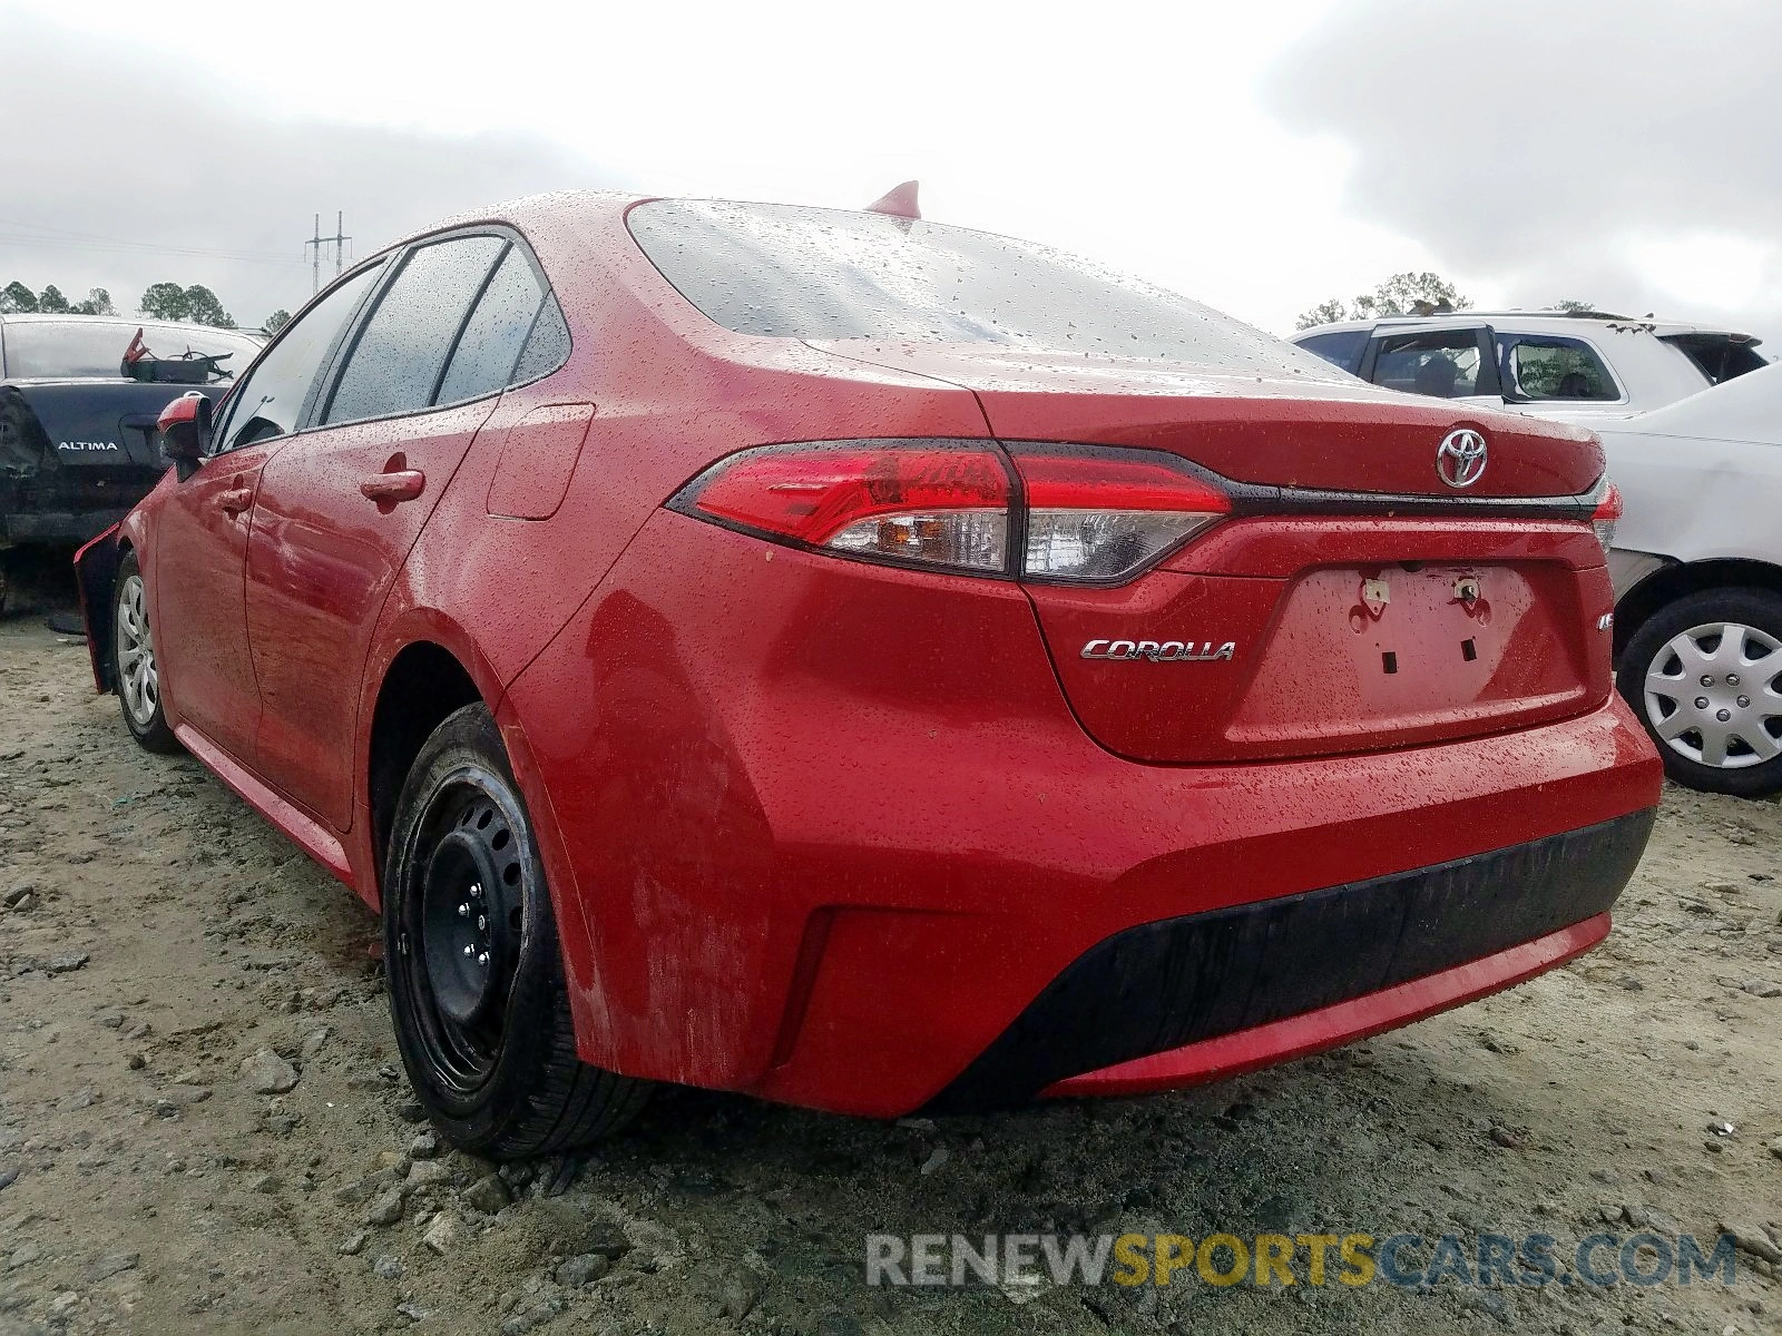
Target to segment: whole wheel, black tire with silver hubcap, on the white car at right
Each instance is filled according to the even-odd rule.
[[[1666,604],[1627,643],[1616,686],[1679,784],[1782,791],[1782,597],[1727,588]]]

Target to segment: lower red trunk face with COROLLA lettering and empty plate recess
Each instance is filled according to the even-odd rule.
[[[1139,761],[1472,737],[1611,688],[1614,595],[1575,520],[1238,518],[1132,584],[1028,595],[1076,718]]]

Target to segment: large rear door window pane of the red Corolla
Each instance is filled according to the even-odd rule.
[[[412,251],[360,330],[323,422],[431,404],[470,303],[506,246],[501,237],[456,237]]]

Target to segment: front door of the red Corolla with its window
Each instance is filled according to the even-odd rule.
[[[223,404],[210,458],[157,513],[148,581],[168,698],[180,721],[244,764],[260,723],[242,600],[255,488],[378,269],[351,274],[280,333]]]

